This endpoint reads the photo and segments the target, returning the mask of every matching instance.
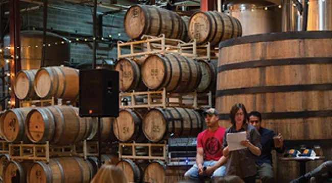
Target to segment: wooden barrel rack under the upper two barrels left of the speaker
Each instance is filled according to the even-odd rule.
[[[54,106],[55,104],[59,104],[61,101],[61,104],[63,105],[72,105],[76,107],[76,102],[75,101],[69,101],[69,100],[62,100],[61,98],[58,98],[55,100],[54,97],[50,99],[39,99],[39,100],[20,100],[19,101],[19,107],[30,107],[30,106],[40,106],[40,107],[45,107],[45,106]]]

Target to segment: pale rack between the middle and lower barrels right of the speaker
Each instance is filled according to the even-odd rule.
[[[146,102],[136,102],[136,98],[144,98]],[[124,98],[130,98],[130,103],[125,106],[122,101]],[[199,98],[204,97],[206,100],[204,103],[199,102]],[[212,94],[209,93],[167,93],[163,88],[159,91],[146,91],[146,92],[130,92],[120,93],[120,108],[167,108],[167,107],[183,107],[183,108],[211,108],[212,107]]]

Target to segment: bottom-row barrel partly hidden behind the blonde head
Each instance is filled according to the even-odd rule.
[[[135,162],[124,159],[118,162],[116,166],[125,172],[128,182],[138,183],[143,180],[143,170]]]

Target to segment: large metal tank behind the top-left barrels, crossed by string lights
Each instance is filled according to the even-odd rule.
[[[4,45],[9,45],[9,35],[4,38]],[[42,58],[43,32],[21,31],[20,34],[21,69],[39,69]],[[63,41],[63,43],[62,43]],[[51,46],[48,46],[48,44]],[[55,43],[57,43],[55,45]],[[30,47],[29,47],[30,46]],[[38,46],[38,47],[36,47]],[[62,36],[46,34],[46,55],[44,67],[59,66],[70,61],[70,44]]]

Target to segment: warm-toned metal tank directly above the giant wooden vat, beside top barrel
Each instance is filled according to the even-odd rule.
[[[224,13],[238,18],[242,24],[242,35],[264,34],[281,31],[281,11],[266,1],[227,1]],[[280,23],[278,23],[280,22]]]

